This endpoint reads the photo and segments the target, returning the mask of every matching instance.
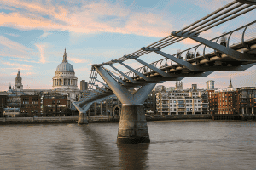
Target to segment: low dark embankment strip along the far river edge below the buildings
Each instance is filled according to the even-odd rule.
[[[166,115],[146,116],[147,122],[209,122],[217,120],[255,120],[254,115]],[[0,117],[0,125],[5,124],[42,124],[42,123],[78,123],[79,116],[54,117]],[[119,122],[119,117],[90,116],[89,123]]]

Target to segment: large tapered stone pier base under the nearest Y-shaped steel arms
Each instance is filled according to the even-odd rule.
[[[117,143],[150,143],[143,105],[122,106]]]

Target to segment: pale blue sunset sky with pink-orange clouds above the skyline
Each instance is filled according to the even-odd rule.
[[[131,54],[230,2],[1,0],[0,91],[8,90],[10,82],[12,86],[15,85],[18,69],[25,89],[52,88],[52,77],[62,61],[64,48],[67,48],[68,62],[73,65],[79,82],[88,82],[91,65]],[[255,20],[255,15],[253,10],[202,33],[201,37],[218,37],[223,32]],[[196,44],[186,39],[163,48],[163,51],[175,54],[178,49],[184,50]],[[153,62],[162,58],[157,54],[147,54],[140,59]],[[140,66],[132,59],[125,62],[133,68]],[[128,71],[115,65],[121,71]],[[242,72],[214,72],[201,78],[184,78],[183,87],[189,88],[191,84],[197,83],[198,88],[206,88],[208,80],[214,80],[216,88],[227,87],[230,75],[236,88],[255,86],[255,68],[253,66]],[[163,85],[173,87],[175,82],[165,82]]]

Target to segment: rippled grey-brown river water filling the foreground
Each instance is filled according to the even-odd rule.
[[[118,123],[0,125],[0,169],[256,169],[255,122],[148,122],[150,144],[117,145]]]

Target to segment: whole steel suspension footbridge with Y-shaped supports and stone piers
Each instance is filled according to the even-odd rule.
[[[88,123],[86,111],[90,105],[115,95],[122,103],[117,143],[149,143],[143,102],[156,83],[180,81],[185,77],[207,77],[213,71],[245,71],[256,65],[256,20],[211,40],[200,36],[201,32],[227,25],[227,21],[255,8],[256,0],[236,0],[179,31],[172,31],[169,36],[147,47],[119,59],[91,65],[89,88],[83,98],[73,101],[79,111],[79,124]],[[161,50],[186,38],[199,42],[199,45],[177,54],[166,54]],[[161,55],[164,59],[150,64],[139,59],[150,53]],[[133,69],[124,63],[129,59],[143,66]],[[114,64],[118,64],[118,67]],[[120,66],[130,71],[124,73],[118,69]],[[103,88],[97,86],[96,82],[102,84]],[[134,88],[138,88],[137,91],[131,90]]]

